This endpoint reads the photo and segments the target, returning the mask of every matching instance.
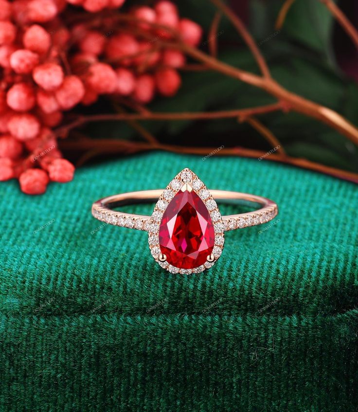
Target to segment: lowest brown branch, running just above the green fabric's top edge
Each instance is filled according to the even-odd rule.
[[[130,152],[143,152],[149,150],[166,150],[174,153],[188,153],[188,154],[197,154],[205,156],[208,153],[211,153],[216,148],[213,147],[183,147],[183,146],[172,146],[172,145],[163,145],[157,144],[155,146],[150,145],[146,142],[131,142],[127,140],[112,140],[112,139],[81,139],[78,141],[74,140],[61,140],[60,142],[61,150],[100,150],[101,154],[113,154],[113,153],[123,153]],[[215,156],[242,156],[249,158],[259,159],[266,153],[262,150],[252,150],[245,149],[241,147],[235,148],[223,148],[215,154]],[[264,161],[273,161],[273,162],[282,162],[288,165],[297,166],[303,169],[314,170],[320,173],[328,174],[343,180],[354,182],[358,184],[358,174],[348,172],[346,170],[331,168],[319,163],[311,162],[302,158],[290,157],[287,155],[282,155],[279,153],[272,153],[269,156],[264,158]]]

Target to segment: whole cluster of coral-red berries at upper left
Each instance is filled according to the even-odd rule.
[[[124,1],[0,0],[0,180],[18,178],[28,194],[72,180],[53,129],[80,103],[105,94],[145,104],[177,93],[185,56],[156,39],[197,46],[200,26],[180,19],[171,1],[126,14]]]

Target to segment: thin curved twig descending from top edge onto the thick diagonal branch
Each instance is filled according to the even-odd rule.
[[[215,6],[233,23],[236,30],[239,32],[241,37],[244,39],[245,43],[248,45],[251,50],[252,55],[255,57],[258,66],[264,77],[270,78],[269,67],[266,64],[264,56],[262,56],[255,40],[252,38],[251,34],[245,27],[245,24],[241,19],[221,0],[210,0]]]

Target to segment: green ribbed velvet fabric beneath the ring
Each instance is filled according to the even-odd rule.
[[[90,214],[184,167],[279,205],[275,225],[228,232],[198,275],[162,270],[145,232]],[[152,153],[79,169],[43,196],[15,181],[0,195],[1,412],[356,411],[357,186],[255,159]]]

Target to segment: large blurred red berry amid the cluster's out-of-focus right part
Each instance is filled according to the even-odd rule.
[[[131,64],[131,58],[125,56],[135,55],[139,52],[139,44],[135,37],[121,33],[111,37],[106,46],[106,56],[112,60],[121,60],[121,64],[128,66]]]

